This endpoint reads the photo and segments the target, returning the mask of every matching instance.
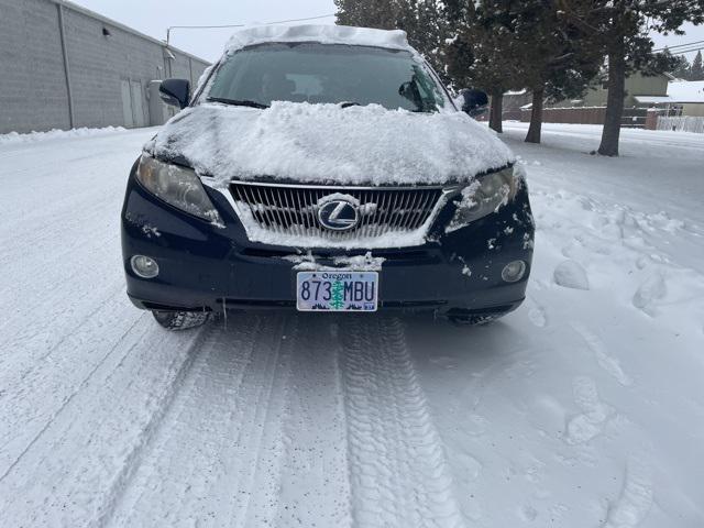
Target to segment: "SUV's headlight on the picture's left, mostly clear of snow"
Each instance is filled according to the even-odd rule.
[[[162,163],[143,154],[136,169],[136,179],[166,204],[209,222],[222,223],[195,170]]]

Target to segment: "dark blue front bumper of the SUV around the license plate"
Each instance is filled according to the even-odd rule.
[[[285,256],[306,249],[249,241],[228,200],[207,188],[224,221],[213,227],[158,200],[130,175],[122,210],[122,254],[128,295],[151,310],[295,308],[295,264]],[[433,310],[441,314],[503,314],[525,297],[532,261],[534,223],[526,189],[498,212],[451,233],[438,231],[453,212],[448,205],[431,228],[435,241],[421,246],[373,250],[384,257],[380,309]],[[332,266],[334,256],[367,250],[314,250],[316,262]],[[160,275],[138,277],[132,255],[155,258]],[[522,260],[524,278],[508,284],[502,270]]]

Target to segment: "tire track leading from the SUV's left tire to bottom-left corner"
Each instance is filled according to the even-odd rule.
[[[0,518],[91,526],[177,394],[201,332],[138,323],[119,340],[0,481]]]

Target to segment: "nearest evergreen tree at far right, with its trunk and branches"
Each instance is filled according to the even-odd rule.
[[[579,25],[593,42],[601,42],[608,61],[606,118],[598,153],[618,155],[626,76],[651,68],[653,43],[649,34],[683,34],[686,22],[704,22],[703,0],[593,0],[575,8],[573,0],[557,0],[561,16]],[[579,9],[582,8],[582,9]]]

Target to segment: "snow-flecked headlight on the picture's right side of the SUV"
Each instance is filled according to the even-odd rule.
[[[479,177],[464,187],[457,202],[454,218],[448,226],[448,231],[463,228],[470,222],[498,211],[516,197],[521,177],[519,170],[514,174],[514,167],[498,173]]]

